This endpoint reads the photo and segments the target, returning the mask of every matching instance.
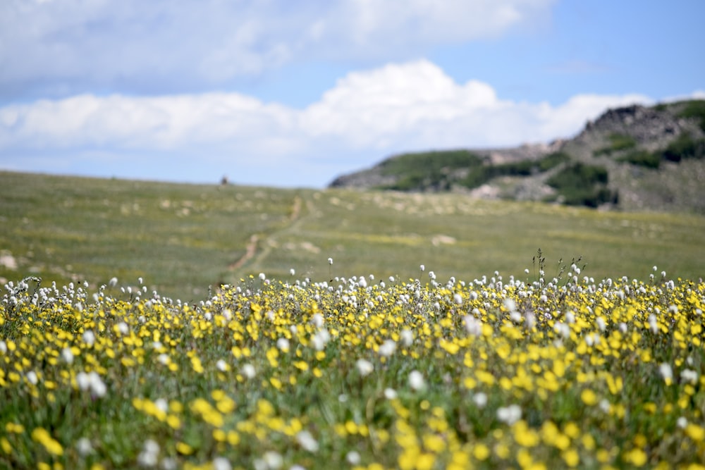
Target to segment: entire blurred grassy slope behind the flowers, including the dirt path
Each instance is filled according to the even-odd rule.
[[[253,239],[253,235],[255,238]],[[253,242],[254,240],[254,242]],[[253,251],[243,264],[237,264]],[[0,172],[0,277],[44,283],[112,276],[183,300],[257,273],[378,280],[515,275],[583,256],[595,278],[705,277],[705,218],[484,201],[462,194],[279,190]],[[333,258],[333,265],[326,261]],[[529,275],[524,269],[529,268]]]

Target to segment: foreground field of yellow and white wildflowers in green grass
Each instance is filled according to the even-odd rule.
[[[705,468],[705,283],[428,275],[10,283],[0,466]]]

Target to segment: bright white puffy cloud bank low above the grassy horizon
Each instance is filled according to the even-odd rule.
[[[235,93],[83,94],[0,108],[0,167],[16,168],[17,155],[90,155],[85,161],[96,168],[150,155],[184,180],[210,162],[218,173],[249,168],[257,183],[290,185],[296,174],[304,175],[298,185],[321,186],[399,151],[570,137],[610,106],[650,101],[639,94],[580,94],[560,106],[504,100],[491,85],[458,84],[426,60],[350,73],[305,109]],[[28,161],[25,169],[32,170]]]

